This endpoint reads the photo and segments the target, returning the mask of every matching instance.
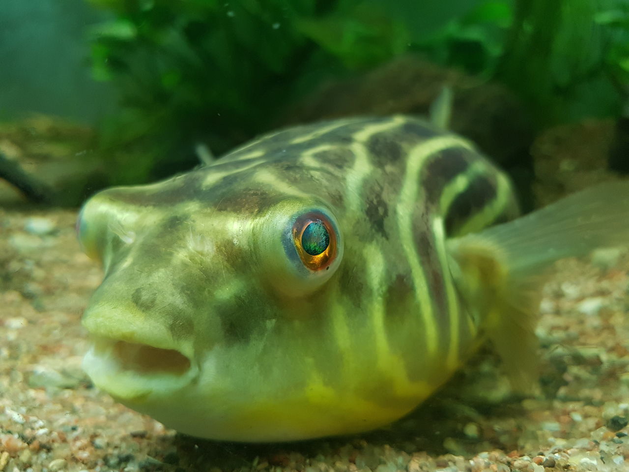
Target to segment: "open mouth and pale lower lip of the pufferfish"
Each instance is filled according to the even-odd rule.
[[[83,369],[94,385],[122,403],[178,390],[198,374],[192,358],[176,349],[92,335]]]

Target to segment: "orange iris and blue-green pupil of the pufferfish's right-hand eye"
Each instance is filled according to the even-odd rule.
[[[299,216],[292,225],[292,241],[301,262],[313,272],[329,269],[337,255],[337,232],[318,211]]]

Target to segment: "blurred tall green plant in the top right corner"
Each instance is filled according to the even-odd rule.
[[[629,93],[626,0],[519,0],[496,78],[540,124],[618,116]]]

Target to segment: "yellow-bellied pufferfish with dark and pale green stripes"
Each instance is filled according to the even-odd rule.
[[[516,216],[503,172],[410,116],[297,126],[106,189],[77,223],[105,273],[84,369],[128,407],[228,441],[389,424],[487,339],[526,385],[540,274],[626,243],[629,184]]]

